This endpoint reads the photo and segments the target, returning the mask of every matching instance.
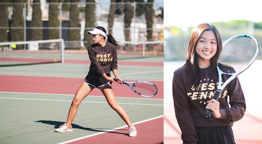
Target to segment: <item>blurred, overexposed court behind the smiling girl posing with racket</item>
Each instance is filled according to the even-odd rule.
[[[173,108],[172,78],[173,71],[184,62],[164,62],[164,143],[183,143]],[[246,113],[232,127],[237,144],[262,143],[262,112],[260,93],[262,77],[260,77],[261,60],[256,60],[250,68],[239,75],[239,81],[246,99]]]

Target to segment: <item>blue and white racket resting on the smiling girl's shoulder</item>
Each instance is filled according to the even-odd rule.
[[[236,35],[223,43],[223,49],[216,64],[219,85],[213,99],[217,101],[226,85],[253,63],[258,55],[258,49],[256,39],[249,35]],[[221,85],[222,75],[231,76],[223,85]],[[206,110],[204,116],[209,118],[211,112],[209,109]]]

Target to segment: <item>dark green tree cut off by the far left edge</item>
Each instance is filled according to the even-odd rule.
[[[7,3],[7,0],[2,1]],[[0,5],[0,27],[8,27],[8,5]],[[0,29],[0,42],[7,41],[8,29]]]

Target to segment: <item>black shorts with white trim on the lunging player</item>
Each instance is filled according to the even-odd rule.
[[[106,74],[106,76],[111,77],[110,74]],[[103,76],[100,76],[98,74],[90,74],[90,73],[88,74],[88,76],[85,77],[84,82],[94,88],[100,88],[106,84],[111,83],[105,80]]]

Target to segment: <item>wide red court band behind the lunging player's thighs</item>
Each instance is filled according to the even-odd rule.
[[[83,80],[83,78],[0,75],[0,91],[75,94]],[[163,82],[150,82],[158,87],[158,94],[151,98],[163,99]],[[134,94],[134,91],[124,84],[114,83],[112,87],[118,89],[114,91],[116,97],[142,98],[142,96]],[[94,89],[90,95],[102,96],[102,93],[99,89]]]

